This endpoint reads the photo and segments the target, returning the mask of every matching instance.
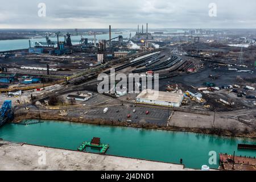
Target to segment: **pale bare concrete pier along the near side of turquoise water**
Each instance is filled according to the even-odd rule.
[[[183,165],[0,141],[0,171],[190,171]]]

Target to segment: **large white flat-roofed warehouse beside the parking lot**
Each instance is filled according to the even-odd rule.
[[[156,92],[154,90],[143,90],[136,101],[142,104],[180,107],[184,98],[183,93]]]

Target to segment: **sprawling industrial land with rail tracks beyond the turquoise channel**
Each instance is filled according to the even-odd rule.
[[[120,35],[109,40],[95,35],[72,44],[67,36],[65,42],[48,38],[25,51],[2,53],[0,105],[12,102],[10,122],[50,119],[256,137],[255,66],[250,59],[234,59],[239,55],[227,43],[216,48],[186,36],[154,39],[139,30],[125,41]],[[134,44],[139,48],[132,48]],[[114,78],[114,84],[104,85],[108,92],[100,93],[98,77],[111,79],[112,69],[114,76],[122,74],[128,82],[118,90],[120,79]],[[159,80],[160,97],[151,92],[154,86],[143,85],[143,79],[153,85]]]

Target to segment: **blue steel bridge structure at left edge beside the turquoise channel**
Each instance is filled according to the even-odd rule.
[[[0,110],[0,126],[5,122],[11,121],[13,119],[13,109],[11,108],[11,101],[3,102],[2,108]]]

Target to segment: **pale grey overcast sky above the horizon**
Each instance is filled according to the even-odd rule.
[[[1,0],[0,28],[256,28],[255,7],[255,0]]]

